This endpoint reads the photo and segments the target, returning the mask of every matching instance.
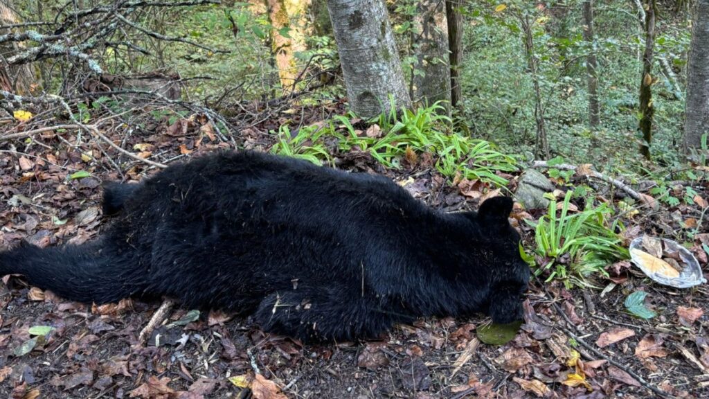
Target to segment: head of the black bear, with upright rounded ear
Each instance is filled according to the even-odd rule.
[[[484,257],[488,285],[486,307],[493,322],[506,324],[523,318],[522,300],[530,279],[530,268],[520,255],[520,234],[508,217],[513,200],[493,197],[483,202],[476,214],[483,236],[479,252]]]

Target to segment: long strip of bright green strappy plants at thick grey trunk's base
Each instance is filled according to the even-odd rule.
[[[415,111],[402,109],[398,114],[393,106],[391,109],[389,114],[369,121],[372,127],[378,127],[370,128],[372,133],[356,129],[351,122],[353,115],[337,115],[322,127],[302,127],[295,135],[288,126],[281,126],[272,153],[306,159],[318,165],[323,161],[331,163],[325,139],[336,138],[339,151],[353,148],[368,151],[387,168],[400,168],[407,151],[413,151],[434,155],[435,168],[446,177],[459,175],[496,186],[508,183],[498,173],[519,169],[518,158],[501,153],[493,143],[450,132],[452,121],[443,114],[444,107],[439,103]]]

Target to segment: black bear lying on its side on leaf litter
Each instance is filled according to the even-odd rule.
[[[216,153],[107,185],[105,234],[21,244],[0,253],[0,275],[81,302],[166,295],[304,341],[374,338],[433,315],[507,323],[522,317],[530,275],[511,209],[496,197],[445,214],[386,177]]]

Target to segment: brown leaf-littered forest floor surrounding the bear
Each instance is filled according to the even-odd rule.
[[[321,116],[320,111],[303,110],[281,117],[298,124],[301,117],[311,123]],[[266,133],[281,122],[274,119],[245,129],[238,144],[267,150],[272,138]],[[128,137],[116,131],[106,134],[115,135],[109,137],[123,148],[151,152],[145,156],[162,162],[233,148],[233,143],[222,143],[201,127],[199,121],[181,119]],[[82,158],[61,135],[42,133],[37,137],[41,145],[28,148],[0,141],[0,249],[21,239],[40,246],[94,239],[111,223],[100,211],[101,182],[139,180],[152,173],[149,165],[111,148],[102,153],[95,145],[90,158]],[[474,209],[484,195],[485,187],[447,184],[425,157],[408,168],[384,170],[366,153],[335,156],[340,168],[384,173],[437,209]],[[117,169],[111,161],[123,166]],[[69,177],[89,169],[90,175]],[[510,177],[513,186],[516,176]],[[696,190],[706,198],[705,187]],[[627,240],[643,233],[668,236],[700,209],[681,204],[651,213],[626,221]],[[532,242],[533,231],[518,219],[540,213],[516,209],[514,216],[525,241]],[[706,268],[702,239],[709,244],[709,236],[700,234],[693,252]],[[677,398],[709,397],[709,288],[658,285],[627,262],[609,272],[610,278],[595,281],[614,287],[603,294],[532,281],[525,324],[503,346],[478,341],[476,329],[489,323],[482,315],[420,319],[393,328],[379,341],[303,345],[264,334],[245,317],[196,315],[179,305],[167,320],[177,325],[162,325],[147,345],[138,346],[138,334],[160,302],[124,300],[96,307],[67,302],[28,287],[21,278],[6,277],[0,287],[0,395],[654,398],[661,391]],[[624,312],[625,297],[635,290],[648,293],[647,303],[657,317],[643,320]],[[30,335],[43,326],[52,330]],[[249,386],[252,393],[240,386]]]

